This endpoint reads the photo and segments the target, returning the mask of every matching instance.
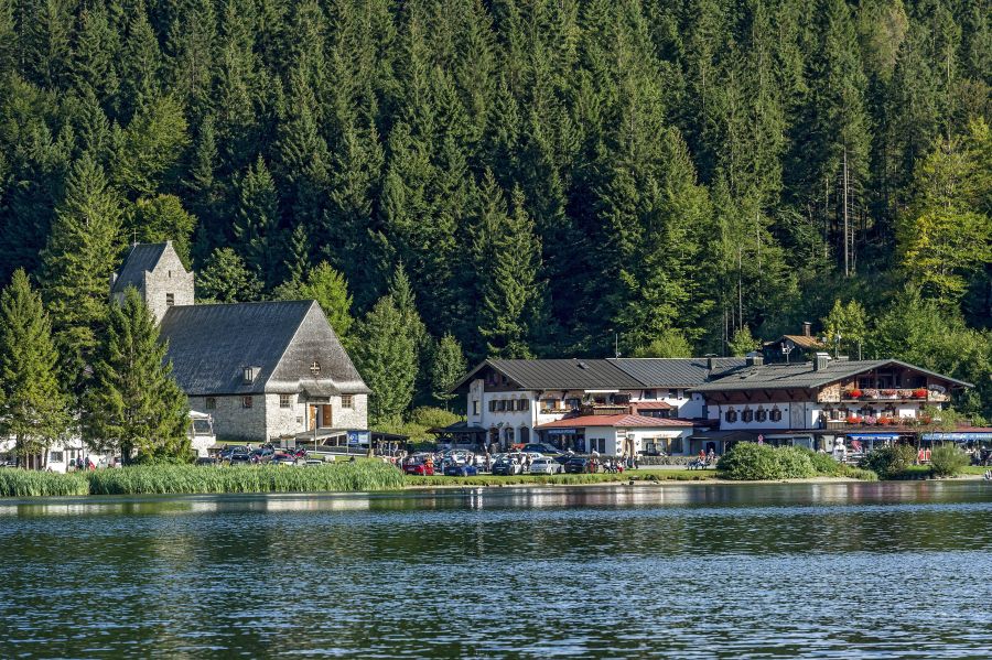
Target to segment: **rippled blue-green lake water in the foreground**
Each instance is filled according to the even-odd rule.
[[[0,501],[0,657],[988,658],[992,484]]]

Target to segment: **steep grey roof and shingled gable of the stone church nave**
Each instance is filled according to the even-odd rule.
[[[289,393],[301,386],[368,392],[314,301],[174,306],[160,331],[188,396]],[[316,381],[313,360],[322,369]],[[245,367],[257,368],[251,383],[244,381]]]

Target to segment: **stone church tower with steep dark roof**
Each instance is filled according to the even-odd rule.
[[[138,290],[157,323],[169,307],[193,304],[193,273],[183,266],[171,240],[131,247],[120,273],[114,277],[110,294],[121,302],[128,286]]]

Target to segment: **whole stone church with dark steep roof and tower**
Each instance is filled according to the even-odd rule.
[[[222,440],[345,436],[368,429],[368,394],[316,301],[194,304],[171,242],[131,248],[111,294],[142,295],[190,408]]]

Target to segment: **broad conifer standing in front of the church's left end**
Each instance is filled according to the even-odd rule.
[[[125,464],[190,461],[188,403],[165,351],[154,317],[129,289],[123,304],[110,307],[84,399],[84,437],[94,451],[120,452]]]

